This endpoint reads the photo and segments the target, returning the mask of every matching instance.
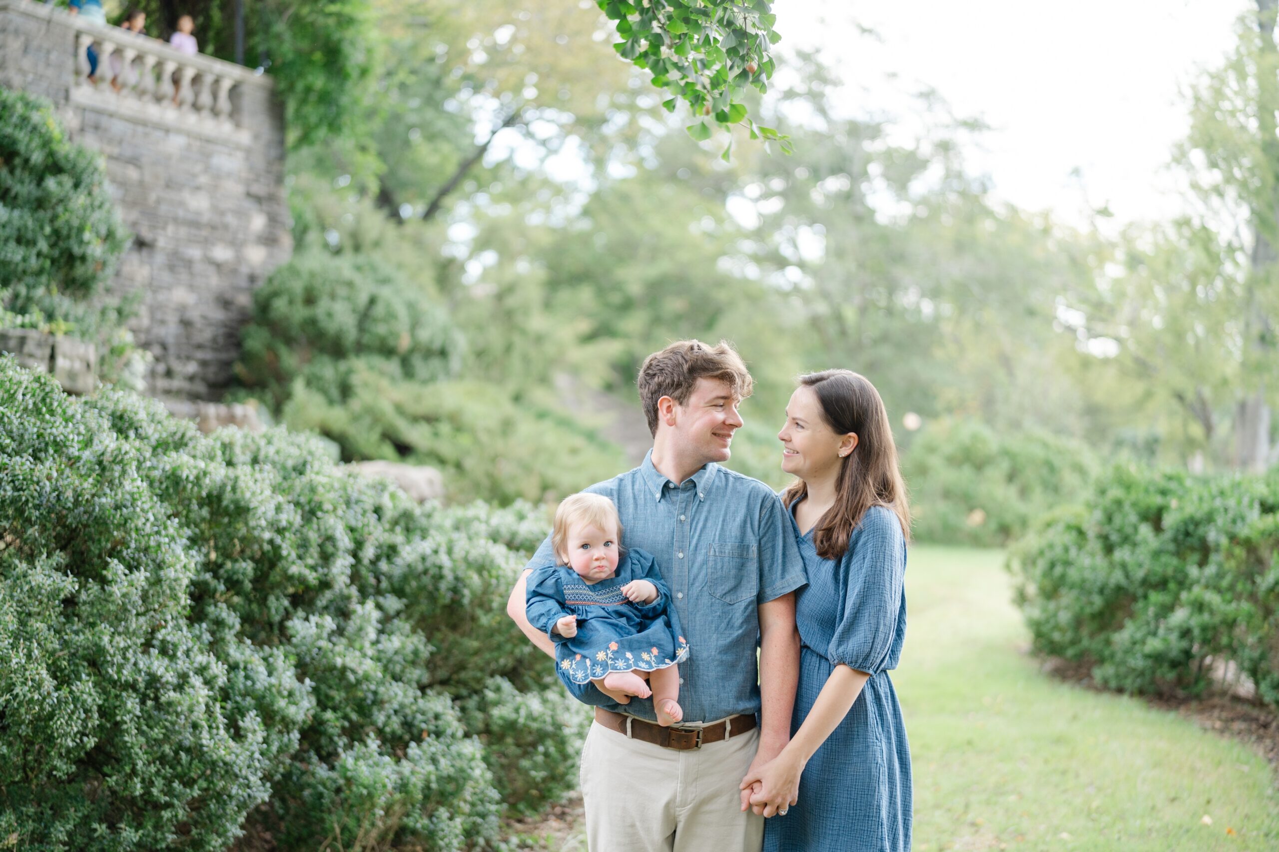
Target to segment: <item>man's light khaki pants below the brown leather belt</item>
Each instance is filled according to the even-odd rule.
[[[581,774],[587,849],[758,852],[764,817],[742,812],[738,791],[758,743],[756,728],[675,751],[592,723]]]

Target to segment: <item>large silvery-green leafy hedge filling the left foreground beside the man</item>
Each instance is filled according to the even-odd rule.
[[[545,526],[0,359],[0,838],[491,843],[572,783],[581,714],[503,613]]]

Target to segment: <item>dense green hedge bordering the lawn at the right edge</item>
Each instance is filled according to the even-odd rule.
[[[1279,706],[1279,475],[1115,467],[1014,551],[1036,650],[1127,692],[1197,695],[1233,661]]]

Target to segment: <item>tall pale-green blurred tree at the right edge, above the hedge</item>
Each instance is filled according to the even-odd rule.
[[[1274,0],[1239,19],[1234,52],[1205,73],[1175,154],[1192,212],[1129,229],[1124,269],[1085,288],[1079,334],[1181,408],[1184,449],[1239,469],[1279,461],[1271,406],[1279,358],[1279,50]],[[1228,431],[1227,427],[1228,426]],[[1227,446],[1225,439],[1232,446]]]

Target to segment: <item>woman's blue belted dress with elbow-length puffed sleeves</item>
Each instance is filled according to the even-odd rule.
[[[792,525],[794,523],[794,505]],[[812,531],[796,536],[808,585],[796,600],[799,729],[835,665],[871,677],[799,778],[799,802],[764,824],[765,852],[904,852],[911,848],[911,747],[889,669],[906,638],[906,539],[897,514],[872,507],[838,560]]]

